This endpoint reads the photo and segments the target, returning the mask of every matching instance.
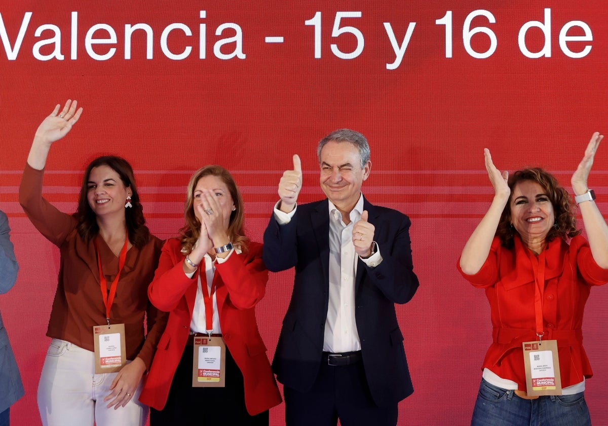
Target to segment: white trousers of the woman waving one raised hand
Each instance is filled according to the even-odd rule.
[[[148,406],[139,402],[142,383],[125,407],[106,408],[118,373],[95,374],[95,354],[53,339],[38,383],[38,410],[44,426],[143,426]]]

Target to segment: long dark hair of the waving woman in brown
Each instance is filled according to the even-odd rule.
[[[87,199],[91,170],[99,166],[108,166],[118,173],[125,187],[131,187],[131,192],[133,192],[131,194],[131,204],[133,207],[125,209],[126,229],[128,230],[131,244],[138,249],[142,248],[150,241],[150,230],[145,226],[146,220],[143,217],[143,207],[139,201],[133,168],[126,159],[114,155],[95,158],[86,167],[85,176],[80,188],[80,197],[78,198],[78,210],[74,213],[74,217],[78,221],[78,235],[88,243],[91,239],[97,237],[99,233],[95,213],[92,211],[91,206],[89,206],[89,200]]]

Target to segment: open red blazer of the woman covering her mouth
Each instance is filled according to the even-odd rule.
[[[252,416],[282,401],[255,321],[254,307],[264,297],[268,281],[268,270],[261,256],[262,245],[251,242],[247,253],[233,252],[226,262],[216,264],[213,277],[222,335],[243,373],[245,405]],[[139,397],[142,403],[157,410],[162,410],[167,403],[173,375],[190,333],[200,268],[188,278],[182,269],[184,257],[180,240],[167,240],[148,288],[154,306],[170,312]]]

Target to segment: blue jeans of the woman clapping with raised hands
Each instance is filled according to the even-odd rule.
[[[471,426],[590,426],[584,393],[523,399],[482,379]]]

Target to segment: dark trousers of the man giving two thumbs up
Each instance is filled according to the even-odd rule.
[[[362,361],[330,366],[323,359],[308,392],[284,388],[288,426],[395,426],[397,403],[378,407],[371,399]]]

